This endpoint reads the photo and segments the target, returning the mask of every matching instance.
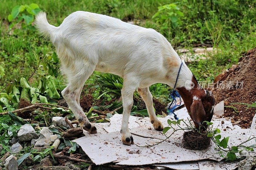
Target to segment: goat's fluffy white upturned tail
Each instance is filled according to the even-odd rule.
[[[47,39],[50,38],[53,41],[54,31],[57,27],[48,23],[45,12],[41,11],[36,15],[35,26],[41,36]]]

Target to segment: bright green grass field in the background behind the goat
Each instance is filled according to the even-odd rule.
[[[174,48],[192,48],[194,44],[211,44],[218,49],[207,60],[188,63],[198,81],[212,81],[222,70],[238,62],[239,57],[256,44],[255,1],[180,0],[175,4],[183,12],[181,24],[173,29],[168,23],[159,23],[152,16],[158,6],[174,3],[172,0],[2,0],[0,2],[0,62],[4,62],[5,76],[0,86],[21,74],[31,74],[42,58],[54,47],[32,30],[17,24],[8,29],[7,16],[18,4],[36,3],[47,12],[50,24],[59,26],[62,20],[74,11],[91,11],[122,20],[132,19],[138,25],[156,29]],[[18,28],[18,29],[17,29]],[[40,69],[39,69],[40,70]],[[29,76],[29,75],[28,75]],[[25,77],[28,77],[25,76]],[[60,80],[60,82],[62,82]],[[62,88],[62,87],[61,87]],[[166,86],[157,84],[150,88],[153,95],[160,96]]]

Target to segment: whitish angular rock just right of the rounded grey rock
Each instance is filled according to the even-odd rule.
[[[47,127],[43,127],[43,129],[40,131],[39,138],[36,140],[35,147],[44,147],[51,144],[51,135],[53,135],[51,130]]]

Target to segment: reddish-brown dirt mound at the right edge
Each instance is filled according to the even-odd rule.
[[[216,103],[224,100],[225,106],[236,107],[238,112],[233,108],[225,107],[224,116],[234,116],[232,121],[241,121],[240,127],[249,128],[256,113],[255,108],[246,110],[244,105],[230,103],[252,104],[256,101],[256,48],[249,50],[239,59],[237,65],[222,74],[223,76],[219,76],[222,81],[219,81],[213,89]]]

